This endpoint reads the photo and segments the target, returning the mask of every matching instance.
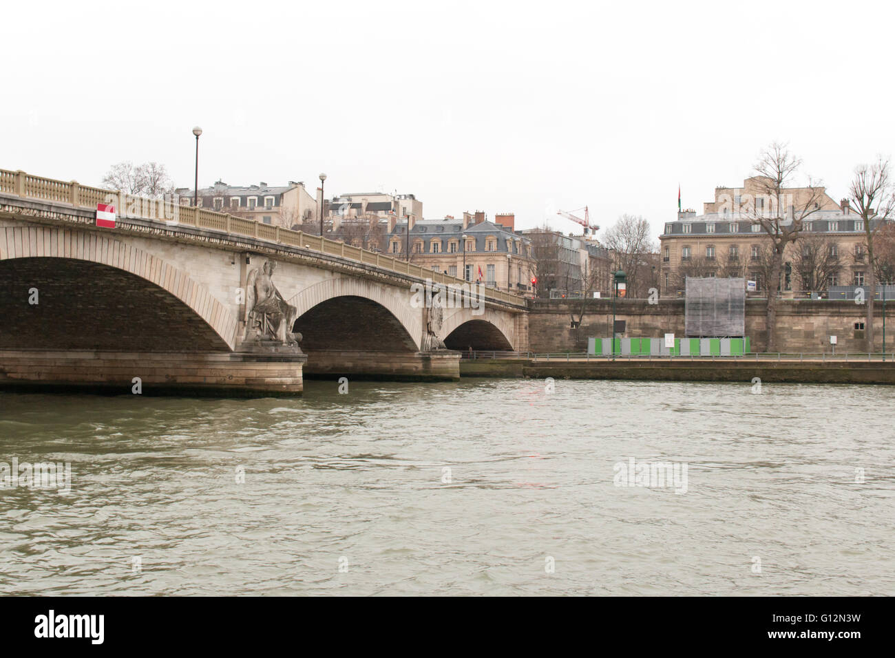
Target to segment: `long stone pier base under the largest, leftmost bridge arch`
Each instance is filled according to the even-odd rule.
[[[301,395],[305,355],[0,350],[0,388],[132,394]]]

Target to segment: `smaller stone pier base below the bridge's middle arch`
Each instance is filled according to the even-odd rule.
[[[304,366],[308,379],[456,381],[460,354],[439,352],[371,352],[366,350],[314,350]]]

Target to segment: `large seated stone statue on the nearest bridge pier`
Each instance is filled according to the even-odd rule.
[[[271,280],[277,261],[266,261],[261,271],[245,280],[245,336],[243,341],[277,340],[292,345],[300,340],[292,333],[298,310],[286,303]]]

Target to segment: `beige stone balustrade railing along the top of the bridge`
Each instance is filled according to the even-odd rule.
[[[115,202],[118,204],[116,206],[118,215],[123,218],[160,219],[166,221],[169,225],[176,223],[183,226],[223,231],[233,235],[247,235],[268,242],[328,253],[423,280],[431,279],[435,283],[447,286],[472,285],[462,278],[451,277],[444,274],[444,272],[422,268],[408,261],[401,261],[382,253],[371,252],[360,247],[354,247],[351,244],[338,242],[337,240],[329,240],[320,235],[293,231],[280,226],[270,226],[254,219],[234,217],[233,215],[196,208],[195,206],[176,205],[175,207],[175,204],[168,201],[152,200],[113,190],[101,190],[97,187],[81,185],[75,181],[66,183],[53,180],[52,178],[41,178],[40,176],[26,174],[21,170],[0,169],[0,193],[14,194],[40,201],[67,203],[75,207],[90,209],[96,209],[98,203],[107,202],[111,196],[115,198]],[[524,297],[519,295],[484,286],[483,288],[482,292],[486,298],[517,305],[525,303]]]

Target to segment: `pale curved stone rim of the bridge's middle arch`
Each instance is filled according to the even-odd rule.
[[[346,303],[354,300],[358,312],[376,312],[375,304],[378,304],[406,332],[406,336],[403,337],[405,342],[412,342],[413,349],[419,351],[422,340],[422,313],[420,309],[414,309],[410,305],[409,292],[405,293],[404,299],[400,296],[401,292],[392,286],[377,285],[365,278],[339,277],[328,278],[308,286],[291,297],[288,302],[298,309],[295,327],[299,331],[302,330],[302,316],[305,313],[311,312],[312,309],[323,308],[322,305],[333,303],[340,298]],[[365,318],[358,317],[356,320],[360,328],[363,328]]]

